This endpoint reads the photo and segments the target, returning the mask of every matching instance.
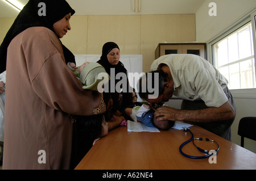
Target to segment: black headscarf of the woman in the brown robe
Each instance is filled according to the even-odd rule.
[[[38,11],[42,6],[40,2],[45,3],[46,16],[40,16]],[[40,11],[39,11],[40,12]],[[7,32],[5,39],[0,47],[0,73],[6,70],[7,48],[16,35],[30,27],[46,27],[53,31],[53,24],[64,18],[65,15],[75,14],[69,4],[65,0],[30,0],[27,5],[19,12],[13,25]],[[53,31],[54,32],[54,31]],[[75,56],[63,45],[65,60],[75,62]]]

